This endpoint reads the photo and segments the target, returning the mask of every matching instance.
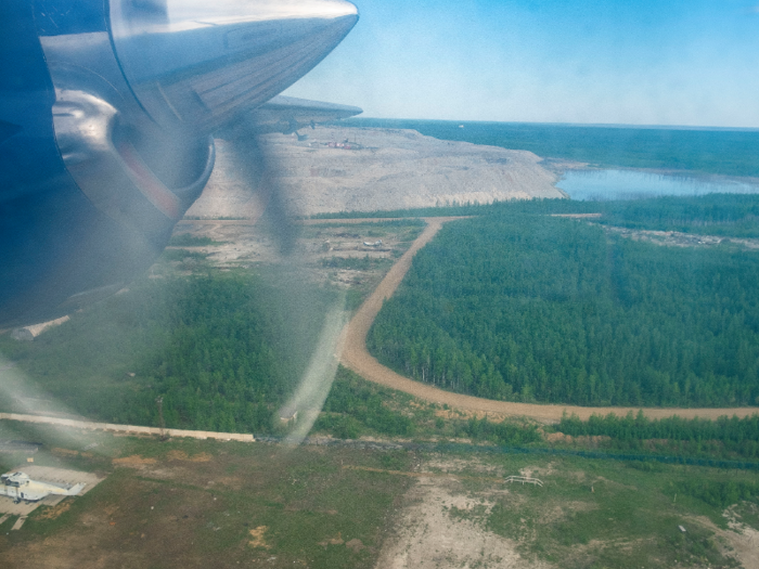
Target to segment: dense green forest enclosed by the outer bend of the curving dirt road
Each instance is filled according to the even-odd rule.
[[[739,198],[723,209],[756,203]],[[694,223],[715,199],[672,198],[669,211],[692,208]],[[447,224],[385,301],[370,351],[421,382],[492,399],[758,404],[759,253],[664,247],[535,211],[565,204],[500,205]],[[669,222],[638,205],[641,224]]]

